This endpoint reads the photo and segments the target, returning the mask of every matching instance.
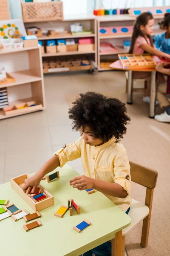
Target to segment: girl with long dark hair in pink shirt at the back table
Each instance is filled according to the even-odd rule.
[[[170,55],[157,50],[153,45],[151,34],[153,33],[154,19],[151,13],[143,12],[137,19],[133,29],[132,41],[130,45],[129,53],[143,54],[150,53],[159,57],[170,58]],[[143,101],[150,103],[150,72],[133,72],[133,77],[136,79],[147,80],[147,88]],[[164,81],[162,74],[158,76],[159,82]],[[158,102],[156,102],[158,104]]]

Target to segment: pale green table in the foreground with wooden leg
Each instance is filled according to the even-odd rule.
[[[0,221],[0,254],[78,256],[113,239],[116,234],[113,251],[115,256],[121,256],[122,229],[130,225],[130,217],[102,193],[88,195],[85,190],[72,188],[68,181],[79,174],[67,164],[57,169],[58,180],[41,181],[41,185],[54,196],[54,206],[40,212],[42,226],[26,232],[23,218],[16,222],[11,217]],[[14,203],[19,209],[34,212],[11,188],[10,182],[0,185],[0,198],[8,198],[8,204]],[[73,209],[73,216],[67,211],[63,218],[55,217],[54,212],[62,204],[67,205],[68,199],[74,199],[81,207],[81,214]],[[77,233],[73,227],[84,219],[90,221],[91,226]]]

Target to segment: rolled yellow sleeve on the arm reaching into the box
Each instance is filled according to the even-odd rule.
[[[60,167],[64,166],[68,161],[73,161],[79,157],[81,157],[81,140],[75,140],[73,143],[67,144],[56,151],[53,155],[58,155]]]

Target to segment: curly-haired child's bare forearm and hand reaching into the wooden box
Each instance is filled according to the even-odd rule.
[[[57,155],[52,156],[37,172],[34,176],[26,179],[24,181],[23,191],[26,192],[26,189],[31,186],[31,193],[34,193],[37,189],[37,186],[40,184],[42,178],[49,172],[52,172],[60,165],[59,157]]]

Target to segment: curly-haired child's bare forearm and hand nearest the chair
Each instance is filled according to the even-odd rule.
[[[99,192],[117,198],[126,198],[128,195],[126,190],[123,189],[123,187],[118,183],[96,180],[90,177],[86,177],[85,175],[75,177],[69,182],[71,186],[78,190],[96,189]]]

